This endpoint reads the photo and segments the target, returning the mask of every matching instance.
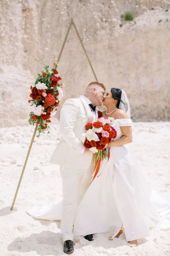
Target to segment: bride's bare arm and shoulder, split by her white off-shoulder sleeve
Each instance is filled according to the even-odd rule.
[[[128,115],[122,110],[115,116],[115,119],[129,118]],[[110,147],[122,146],[132,142],[132,127],[131,126],[120,126],[123,133],[120,139],[113,140],[110,142]],[[108,144],[106,145],[108,147]]]

